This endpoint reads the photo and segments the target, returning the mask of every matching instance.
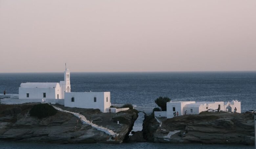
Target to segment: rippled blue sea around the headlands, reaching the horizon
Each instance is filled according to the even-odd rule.
[[[0,73],[0,93],[18,94],[21,83],[59,82],[63,73]],[[155,100],[169,97],[171,101],[232,101],[241,102],[241,111],[256,109],[256,72],[71,72],[72,92],[111,92],[111,103],[130,103],[143,107],[157,107]],[[143,116],[140,116],[141,118]],[[142,125],[143,120],[137,123]],[[137,128],[139,130],[139,128]],[[17,142],[4,142],[0,148],[23,148]],[[57,144],[27,143],[24,148],[63,148]],[[35,147],[36,146],[36,147]],[[44,147],[45,146],[45,147]],[[69,144],[64,148],[253,148],[252,146],[205,144]],[[101,147],[100,147],[101,148]]]

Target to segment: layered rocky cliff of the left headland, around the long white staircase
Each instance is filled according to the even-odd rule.
[[[79,112],[93,123],[107,127],[119,134],[118,141],[107,141],[108,134],[81,124],[74,115],[57,111],[53,116],[38,119],[29,111],[36,103],[19,105],[0,105],[0,140],[19,140],[53,143],[120,143],[133,127],[138,114],[136,110],[120,113],[101,113],[98,109],[58,107]],[[78,123],[77,123],[78,120]],[[117,124],[119,121],[120,124]]]

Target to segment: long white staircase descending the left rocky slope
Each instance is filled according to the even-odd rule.
[[[53,105],[52,105],[53,106]],[[119,135],[117,133],[115,133],[113,130],[110,130],[106,127],[103,127],[103,126],[98,126],[92,122],[90,122],[89,120],[87,120],[83,115],[79,114],[79,113],[76,113],[76,112],[71,112],[71,111],[66,111],[66,110],[62,110],[61,108],[58,108],[56,106],[53,106],[56,110],[59,110],[59,111],[62,111],[62,112],[67,112],[67,113],[71,113],[73,115],[75,115],[76,117],[78,117],[83,124],[88,124],[88,125],[91,125],[92,127],[96,128],[97,130],[99,131],[103,131],[105,132],[106,134],[109,134],[109,135],[112,135],[112,136],[115,136],[115,135]]]

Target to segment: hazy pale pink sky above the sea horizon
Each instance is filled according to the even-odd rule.
[[[0,0],[0,72],[256,70],[255,0]]]

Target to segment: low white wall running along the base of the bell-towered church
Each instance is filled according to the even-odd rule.
[[[41,103],[41,102],[50,102],[52,104],[61,104],[64,105],[64,99],[1,99],[1,104],[23,104],[23,103]]]

